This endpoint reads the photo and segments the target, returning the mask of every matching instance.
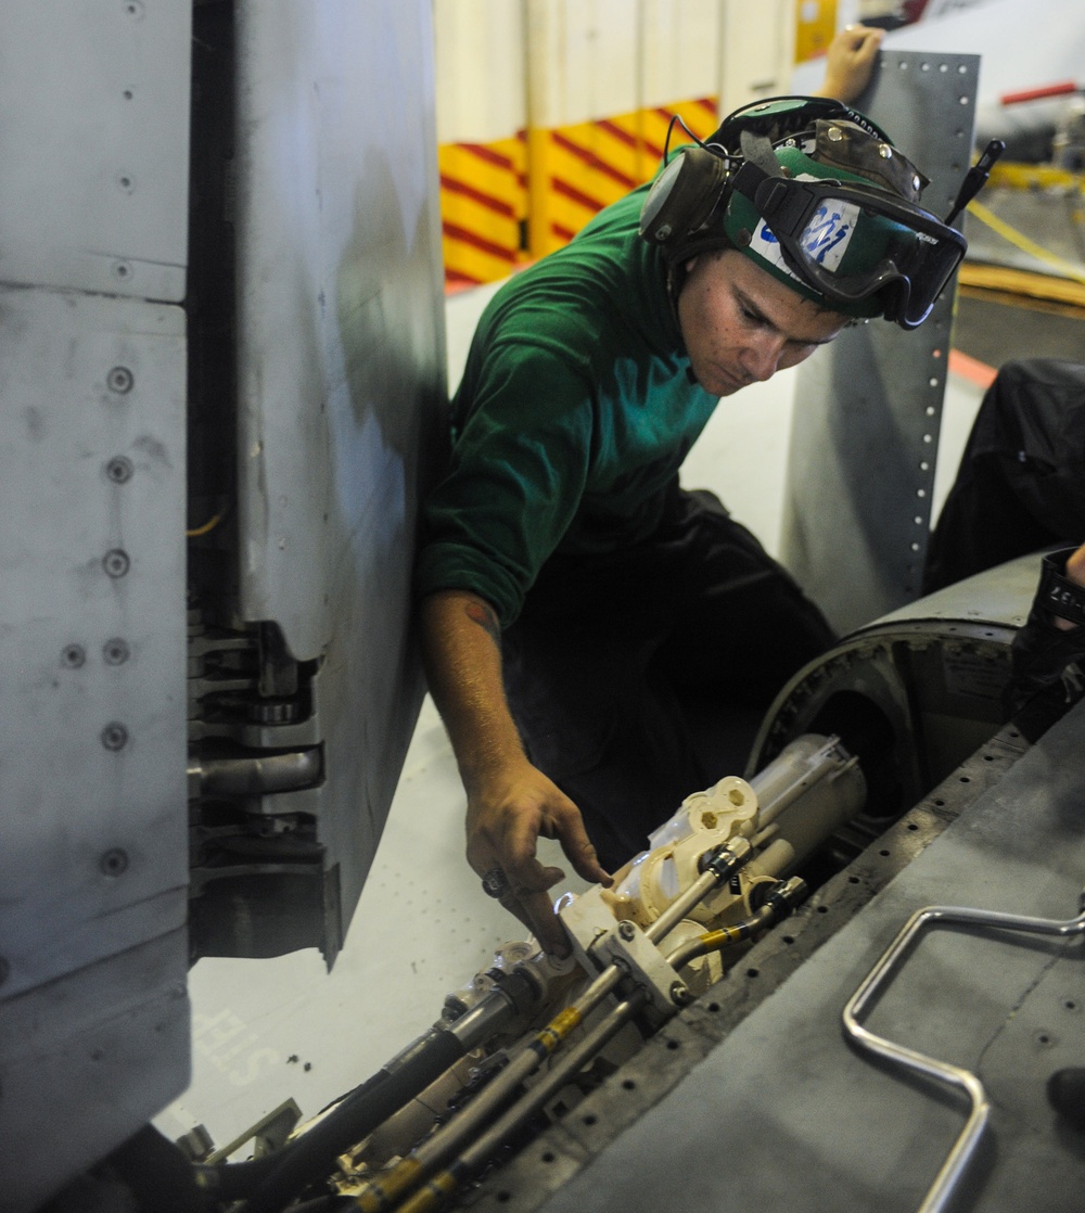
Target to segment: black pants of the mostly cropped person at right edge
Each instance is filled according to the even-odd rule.
[[[931,535],[924,593],[1085,540],[1085,366],[1006,363],[988,388]]]

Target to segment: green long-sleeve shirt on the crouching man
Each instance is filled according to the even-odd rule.
[[[468,590],[502,626],[553,552],[646,539],[715,409],[691,382],[643,189],[515,275],[479,320],[425,508],[420,594]]]

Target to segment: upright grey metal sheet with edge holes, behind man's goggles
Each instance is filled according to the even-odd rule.
[[[945,215],[972,156],[979,59],[884,52],[856,106],[931,178]],[[924,325],[846,330],[799,371],[783,560],[841,632],[919,596],[955,291]]]

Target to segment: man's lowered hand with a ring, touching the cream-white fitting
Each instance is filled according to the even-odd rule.
[[[467,797],[467,862],[481,877],[504,873],[500,901],[530,928],[542,949],[567,956],[569,944],[547,890],[564,877],[535,858],[539,836],[557,838],[576,872],[609,884],[575,804],[527,758]],[[496,877],[500,882],[500,876]]]

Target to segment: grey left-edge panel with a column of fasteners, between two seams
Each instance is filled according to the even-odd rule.
[[[183,314],[4,291],[0,349],[12,995],[183,922]]]

